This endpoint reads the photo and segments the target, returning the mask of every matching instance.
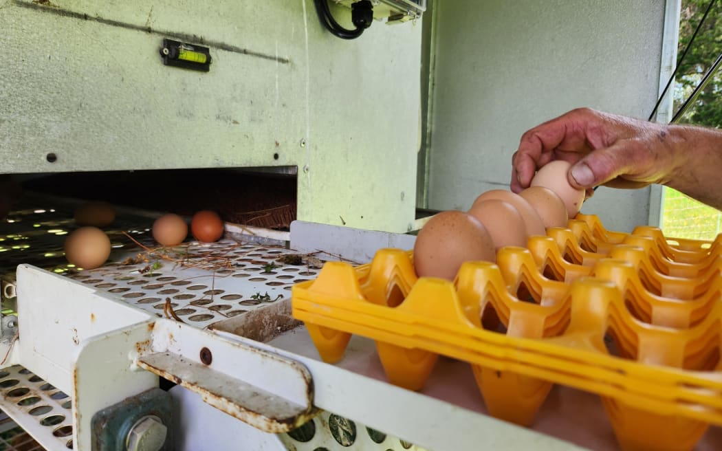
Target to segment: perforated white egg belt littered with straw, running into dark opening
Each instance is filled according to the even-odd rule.
[[[242,239],[183,242],[164,251],[178,257],[175,261],[159,259],[133,242],[157,246],[150,236],[153,216],[144,212],[118,214],[104,228],[113,248],[108,262],[79,270],[63,254],[66,236],[77,228],[73,211],[72,204],[27,194],[4,220],[1,273],[12,278],[15,266],[28,263],[116,294],[158,317],[167,315],[168,304],[178,318],[198,328],[278,305],[288,299],[292,284],[318,273],[313,265],[284,263],[284,255],[297,254],[293,250]]]

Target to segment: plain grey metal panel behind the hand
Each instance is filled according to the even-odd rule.
[[[521,134],[567,110],[646,119],[665,3],[436,2],[429,208],[468,209],[479,193],[508,189]],[[649,198],[648,188],[600,188],[583,212],[630,231],[647,223]]]

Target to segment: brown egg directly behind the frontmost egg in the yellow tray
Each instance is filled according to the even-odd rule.
[[[484,224],[496,250],[504,246],[526,247],[526,225],[521,213],[512,204],[489,199],[475,204],[469,214]]]

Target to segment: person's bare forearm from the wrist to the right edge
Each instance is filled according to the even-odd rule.
[[[722,209],[722,131],[692,126],[668,130],[677,158],[674,170],[661,183]]]

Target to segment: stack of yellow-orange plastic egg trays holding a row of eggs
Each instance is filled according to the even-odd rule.
[[[371,338],[389,382],[424,387],[439,355],[469,362],[492,416],[529,426],[554,384],[600,395],[625,450],[690,450],[722,425],[722,235],[567,228],[466,262],[456,279],[418,278],[384,249],[356,268],[329,262],[292,289],[324,362]]]

